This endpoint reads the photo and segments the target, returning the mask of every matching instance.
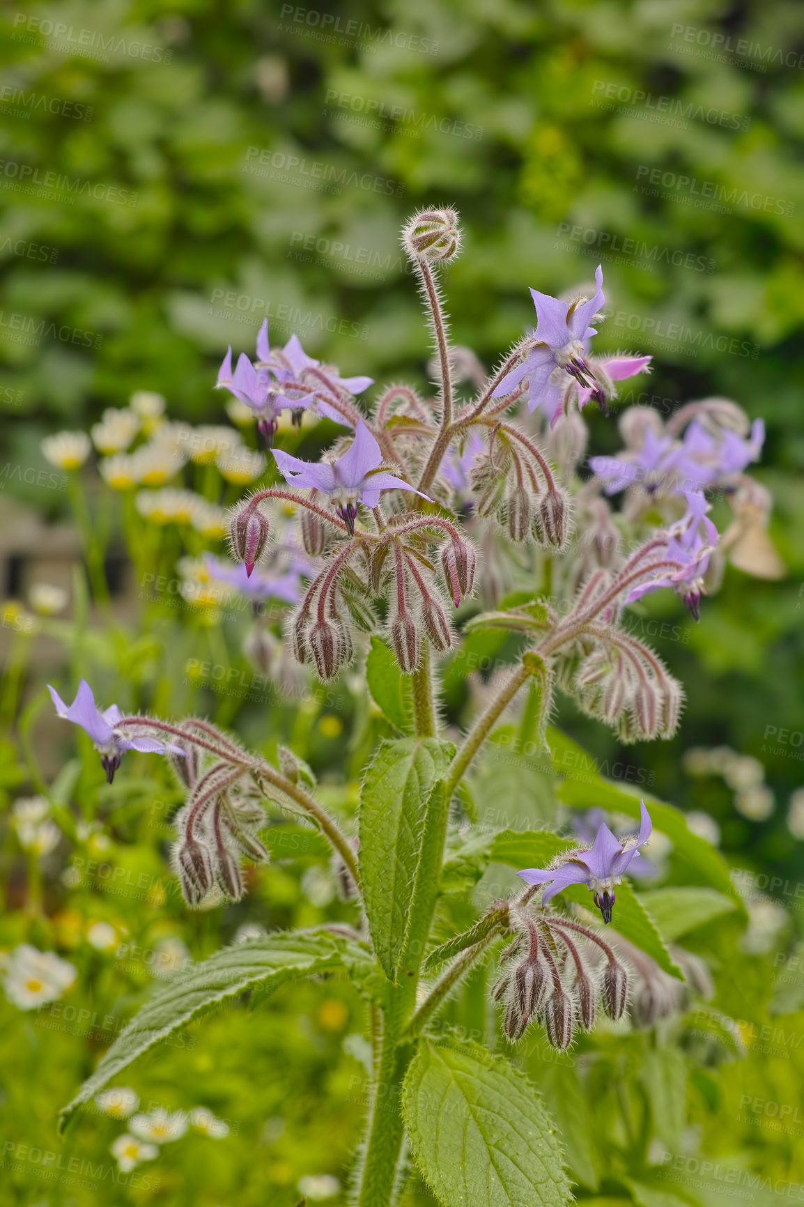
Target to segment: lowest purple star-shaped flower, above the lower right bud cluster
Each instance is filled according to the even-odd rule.
[[[614,886],[622,882],[624,871],[635,870],[642,862],[639,849],[643,846],[653,832],[653,823],[640,801],[641,823],[639,834],[628,838],[614,838],[604,822],[589,849],[573,847],[557,856],[549,868],[525,868],[517,875],[528,885],[544,885],[542,905],[560,893],[567,885],[585,884],[594,893],[594,903],[602,915],[604,922],[611,922],[614,904]]]

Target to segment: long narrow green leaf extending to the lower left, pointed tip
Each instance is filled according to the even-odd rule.
[[[252,985],[273,993],[295,976],[343,968],[344,946],[344,941],[313,932],[268,934],[223,947],[179,973],[121,1031],[95,1072],[60,1112],[59,1127],[63,1130],[74,1112],[112,1077],[191,1019]]]

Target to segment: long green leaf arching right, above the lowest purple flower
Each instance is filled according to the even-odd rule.
[[[742,898],[732,881],[726,859],[711,842],[687,828],[680,809],[657,800],[642,789],[631,788],[630,785],[621,787],[602,779],[596,774],[594,759],[559,730],[548,729],[547,737],[555,770],[567,776],[558,791],[559,800],[572,809],[598,806],[610,812],[625,814],[635,821],[640,820],[640,800],[645,800],[654,827],[672,841],[676,853],[712,888],[730,897],[745,916]]]

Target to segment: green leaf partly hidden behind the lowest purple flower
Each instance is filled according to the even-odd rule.
[[[497,863],[507,863],[512,868],[517,868],[518,871],[523,868],[546,868],[554,856],[566,850],[567,845],[566,839],[559,838],[558,834],[550,834],[548,830],[526,830],[523,834],[503,830],[502,834],[496,835],[491,844],[491,858],[496,859]],[[584,909],[593,908],[592,896],[584,885],[570,885],[563,888],[559,896],[569,898]],[[612,914],[611,926],[629,943],[656,960],[659,968],[670,973],[671,976],[682,976],[681,969],[672,962],[662,941],[659,931],[627,881],[617,886],[617,904]]]

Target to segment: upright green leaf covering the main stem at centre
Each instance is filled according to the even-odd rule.
[[[425,806],[447,770],[435,737],[384,741],[360,794],[360,875],[374,951],[396,980],[410,917]],[[441,855],[441,852],[439,852]]]

